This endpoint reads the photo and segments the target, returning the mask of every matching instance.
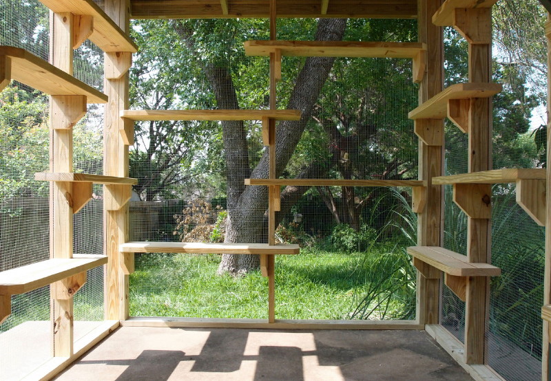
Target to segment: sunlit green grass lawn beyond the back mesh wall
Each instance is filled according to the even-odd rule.
[[[349,318],[374,279],[366,263],[380,256],[380,250],[335,254],[306,249],[298,256],[276,257],[276,318]],[[260,271],[218,276],[219,261],[214,254],[136,254],[131,316],[267,318],[267,279]],[[393,302],[392,307],[400,305]]]

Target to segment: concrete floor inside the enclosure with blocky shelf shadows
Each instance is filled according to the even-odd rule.
[[[424,331],[122,327],[56,380],[472,380]]]

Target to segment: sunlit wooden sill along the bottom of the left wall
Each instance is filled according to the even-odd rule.
[[[118,320],[105,320],[101,325],[92,329],[88,334],[74,342],[74,354],[70,357],[54,357],[42,364],[31,373],[21,378],[23,381],[51,380],[72,362],[78,360],[94,345],[118,328]]]

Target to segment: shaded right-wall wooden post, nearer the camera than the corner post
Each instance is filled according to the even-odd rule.
[[[491,36],[491,12],[480,12],[477,30]],[[488,83],[492,80],[491,43],[469,43],[469,82]],[[468,171],[488,171],[492,168],[492,106],[490,98],[470,100],[468,120]],[[488,186],[488,193],[490,193]],[[470,262],[491,263],[490,219],[468,217],[467,256]],[[489,309],[489,278],[472,276],[467,279],[465,316],[465,361],[484,364],[486,321]]]

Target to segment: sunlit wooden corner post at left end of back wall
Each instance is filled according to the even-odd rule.
[[[105,13],[123,31],[129,30],[129,1],[106,0]],[[130,67],[132,56],[124,54],[120,58],[124,67]],[[105,73],[116,72],[112,59],[105,59]],[[110,77],[113,77],[110,75]],[[118,78],[105,80],[105,94],[109,102],[105,106],[105,128],[103,130],[103,174],[127,177],[129,173],[128,146],[125,145],[123,131],[128,133],[128,125],[119,117],[122,109],[128,109],[128,73]],[[132,127],[130,127],[132,130]],[[132,131],[130,131],[132,133]],[[104,186],[104,203],[112,205],[123,195],[125,190],[118,186]],[[105,274],[105,318],[107,320],[125,320],[128,311],[128,274],[125,269],[131,268],[131,258],[118,251],[118,246],[128,238],[128,206],[119,210],[104,208],[104,244],[105,254],[109,257],[107,273]]]

